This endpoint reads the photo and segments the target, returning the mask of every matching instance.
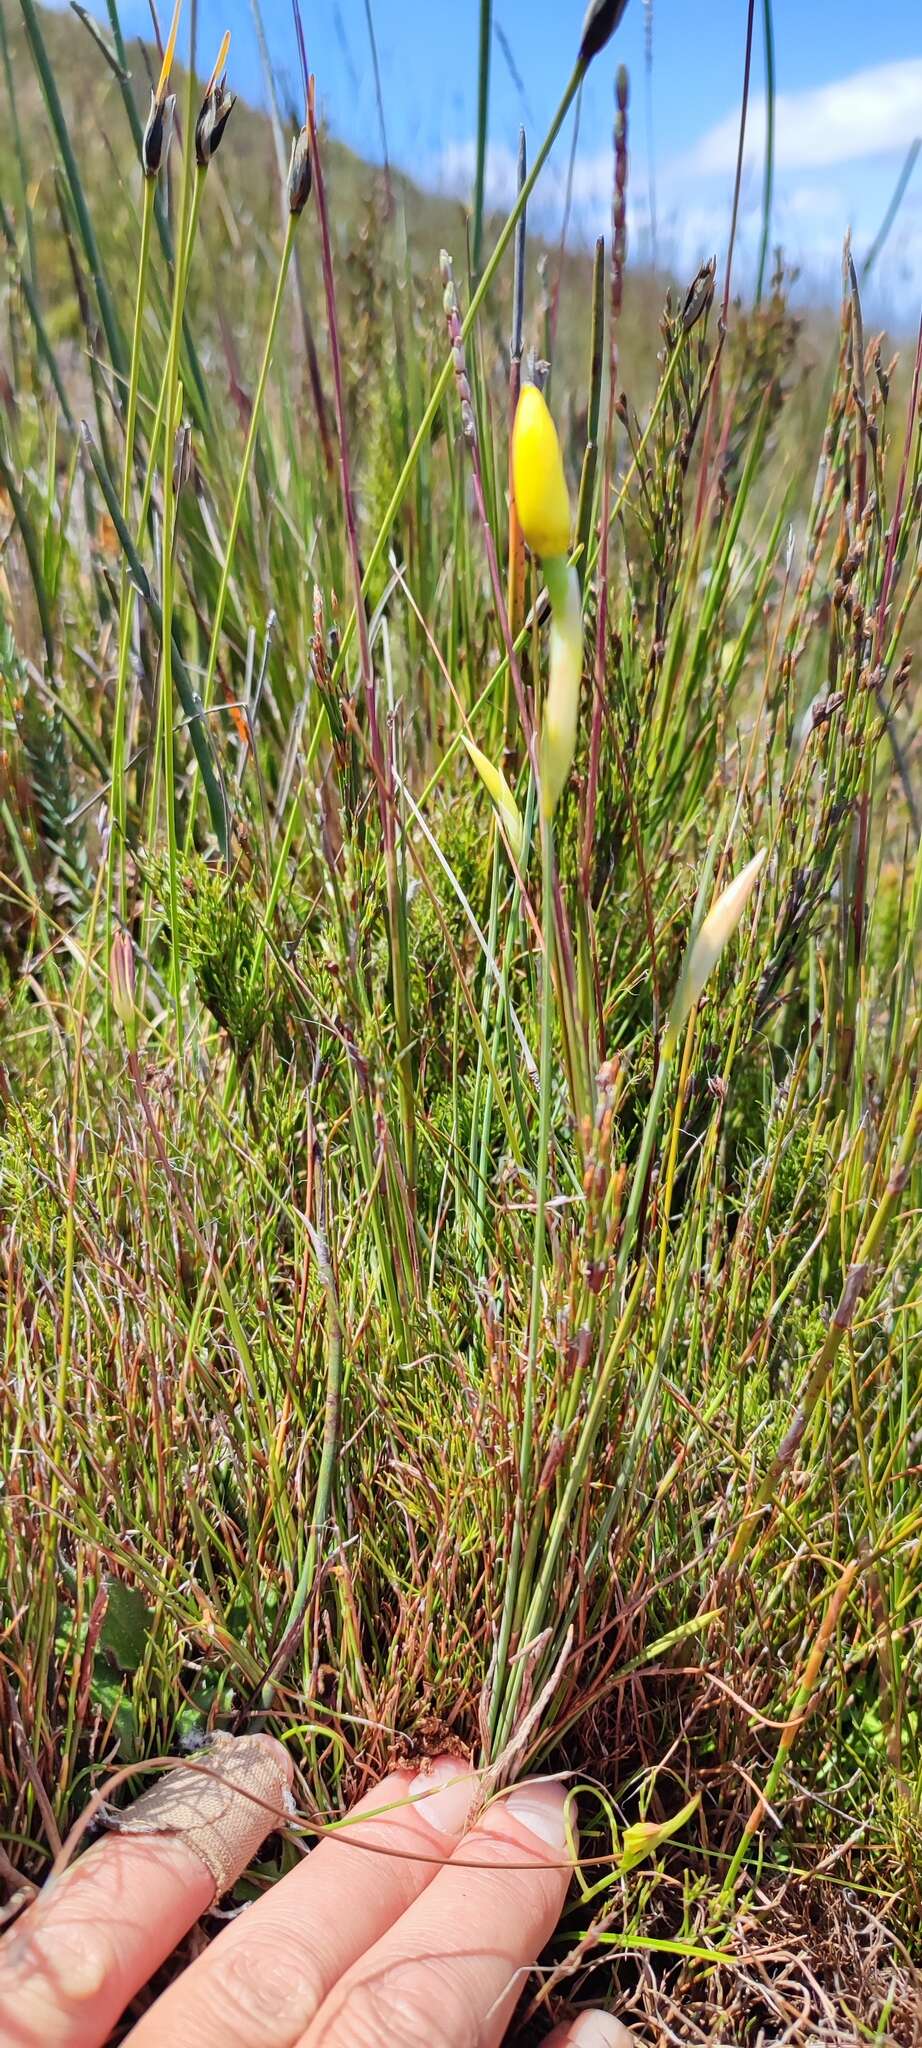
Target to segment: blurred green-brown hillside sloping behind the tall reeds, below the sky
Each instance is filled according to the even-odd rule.
[[[0,12],[14,92],[14,121],[8,119],[0,127],[2,190],[8,195],[10,213],[20,213],[20,207],[16,209],[16,188],[20,182],[16,168],[18,123],[35,211],[39,291],[53,332],[78,336],[80,313],[59,231],[61,219],[53,176],[55,152],[49,141],[45,104],[16,0],[2,0]],[[137,205],[137,160],[125,113],[123,86],[113,76],[94,37],[74,14],[57,10],[39,12],[84,188],[94,211],[96,201],[100,201],[102,250],[115,266],[121,262],[129,264],[133,248],[125,244],[125,223],[131,221]],[[98,33],[111,45],[109,33],[102,29]],[[131,72],[129,90],[145,115],[150,82],[158,72],[156,51],[131,39],[127,43],[127,68]],[[238,90],[238,104],[209,180],[209,211],[201,229],[207,260],[197,264],[193,272],[191,305],[197,324],[207,322],[213,340],[217,340],[217,315],[223,315],[227,324],[223,344],[234,342],[234,354],[246,379],[275,283],[273,250],[281,238],[281,195],[270,119],[258,106],[248,104],[246,92],[240,92],[240,80],[234,78],[234,55],[229,84]],[[180,68],[174,70],[174,86],[178,106],[182,109],[186,80]],[[318,80],[318,94],[322,102],[322,80]],[[4,96],[2,82],[0,96]],[[346,287],[354,297],[357,315],[363,317],[363,299],[375,291],[373,279],[381,256],[385,256],[385,260],[404,266],[404,272],[412,279],[414,293],[422,297],[428,313],[438,319],[438,250],[449,248],[459,272],[465,268],[467,227],[463,205],[424,193],[400,170],[389,174],[387,188],[383,172],[377,166],[361,162],[334,137],[326,143],[326,178],[336,254],[342,262]],[[391,199],[393,217],[389,217]],[[172,190],[170,211],[174,213],[174,209],[176,193]],[[531,340],[539,348],[545,346],[541,305],[547,305],[557,264],[557,248],[547,248],[541,240],[531,238],[529,297],[535,305]],[[320,313],[320,260],[309,236],[303,238],[301,246],[301,270],[311,311]],[[582,250],[568,252],[561,272],[557,334],[557,354],[568,383],[584,375],[588,291],[590,256]],[[627,358],[631,356],[631,336],[641,313],[645,332],[649,334],[647,315],[658,297],[660,285],[656,281],[631,276],[633,305],[629,305],[625,322]],[[504,311],[504,305],[508,307],[508,272],[496,301],[496,340],[500,346],[504,346],[508,334],[508,311]]]

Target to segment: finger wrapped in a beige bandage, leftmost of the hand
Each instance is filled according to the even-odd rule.
[[[2,2048],[96,2048],[279,1823],[291,1761],[270,1737],[225,1739],[51,1878],[0,1942]],[[250,1796],[252,1794],[252,1796]],[[154,1806],[154,1810],[152,1810]],[[141,1829],[154,1827],[154,1833]],[[168,1827],[170,1833],[160,1829]],[[182,1829],[182,1831],[172,1831]]]

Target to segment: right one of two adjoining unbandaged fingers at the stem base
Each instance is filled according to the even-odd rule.
[[[494,2048],[568,1892],[563,1808],[559,1784],[522,1784],[490,1806],[297,2048]]]

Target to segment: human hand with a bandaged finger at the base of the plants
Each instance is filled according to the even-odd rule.
[[[246,1870],[289,1784],[285,1749],[242,1737],[125,1808],[0,1942],[0,2048],[100,2048]],[[572,1866],[559,1784],[529,1780],[479,1817],[475,1802],[455,1757],[393,1772],[174,1978],[129,2048],[494,2048]],[[580,2013],[549,2040],[631,2036]]]

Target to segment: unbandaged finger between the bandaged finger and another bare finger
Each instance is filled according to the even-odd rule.
[[[447,1864],[475,1790],[457,1757],[385,1778],[164,1991],[131,2048],[291,2048],[336,1978]]]

